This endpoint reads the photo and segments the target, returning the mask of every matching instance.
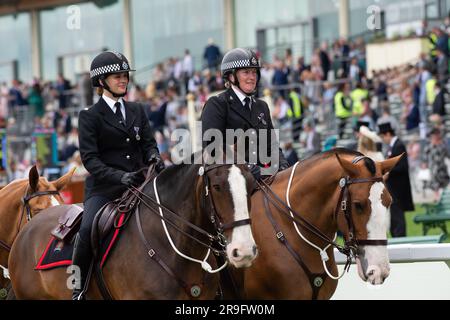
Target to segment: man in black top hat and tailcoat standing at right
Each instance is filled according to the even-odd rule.
[[[391,235],[392,237],[406,236],[405,211],[414,211],[409,180],[408,154],[403,142],[395,135],[391,124],[381,123],[379,136],[388,145],[386,159],[404,154],[397,165],[389,172],[386,185],[393,198],[391,204]]]

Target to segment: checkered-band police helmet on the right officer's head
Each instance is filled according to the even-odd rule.
[[[259,59],[252,50],[244,48],[230,50],[223,57],[220,66],[222,76],[226,76],[234,70],[243,68],[261,68]]]

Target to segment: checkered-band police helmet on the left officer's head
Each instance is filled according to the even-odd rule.
[[[115,51],[105,51],[97,55],[91,63],[92,85],[99,87],[99,78],[113,73],[135,71],[130,69],[127,58]]]

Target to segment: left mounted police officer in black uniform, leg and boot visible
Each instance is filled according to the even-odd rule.
[[[127,102],[130,69],[126,57],[105,51],[91,64],[92,85],[101,96],[96,104],[80,112],[79,144],[83,165],[90,175],[85,181],[84,213],[75,240],[73,264],[80,268],[81,287],[73,299],[84,299],[86,277],[92,260],[91,229],[97,211],[144,181],[141,169],[156,163],[164,169],[156,141],[143,107]]]

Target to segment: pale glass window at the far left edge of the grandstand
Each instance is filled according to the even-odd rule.
[[[30,81],[32,68],[29,14],[0,17],[0,39],[2,41],[0,81],[10,82],[13,79],[14,60],[18,65],[18,78],[22,81]]]

